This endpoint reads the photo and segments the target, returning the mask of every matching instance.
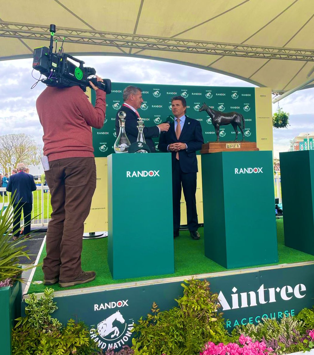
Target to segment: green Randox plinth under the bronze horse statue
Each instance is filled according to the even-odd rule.
[[[205,256],[227,269],[278,262],[272,152],[202,154]]]

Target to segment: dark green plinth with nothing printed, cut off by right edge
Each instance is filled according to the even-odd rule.
[[[285,245],[314,255],[314,151],[279,158]]]

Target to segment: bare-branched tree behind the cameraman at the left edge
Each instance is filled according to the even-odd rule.
[[[2,170],[10,174],[10,169],[18,163],[33,165],[38,154],[38,144],[33,136],[25,133],[7,134],[0,136],[0,165]]]

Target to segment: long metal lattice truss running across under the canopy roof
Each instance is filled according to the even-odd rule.
[[[50,39],[49,26],[0,21],[0,37],[47,41]],[[57,33],[54,37],[60,40],[65,37],[65,42],[68,43],[131,48],[133,50],[161,50],[243,58],[314,61],[314,50],[312,49],[263,47],[66,27],[57,27]]]

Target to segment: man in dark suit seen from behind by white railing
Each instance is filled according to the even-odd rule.
[[[31,174],[25,173],[26,166],[23,163],[17,164],[17,174],[11,175],[6,191],[14,193],[13,209],[13,240],[16,240],[20,235],[21,229],[21,214],[23,208],[24,215],[24,234],[27,238],[31,237],[31,213],[33,206],[32,191],[36,190],[34,177]]]

